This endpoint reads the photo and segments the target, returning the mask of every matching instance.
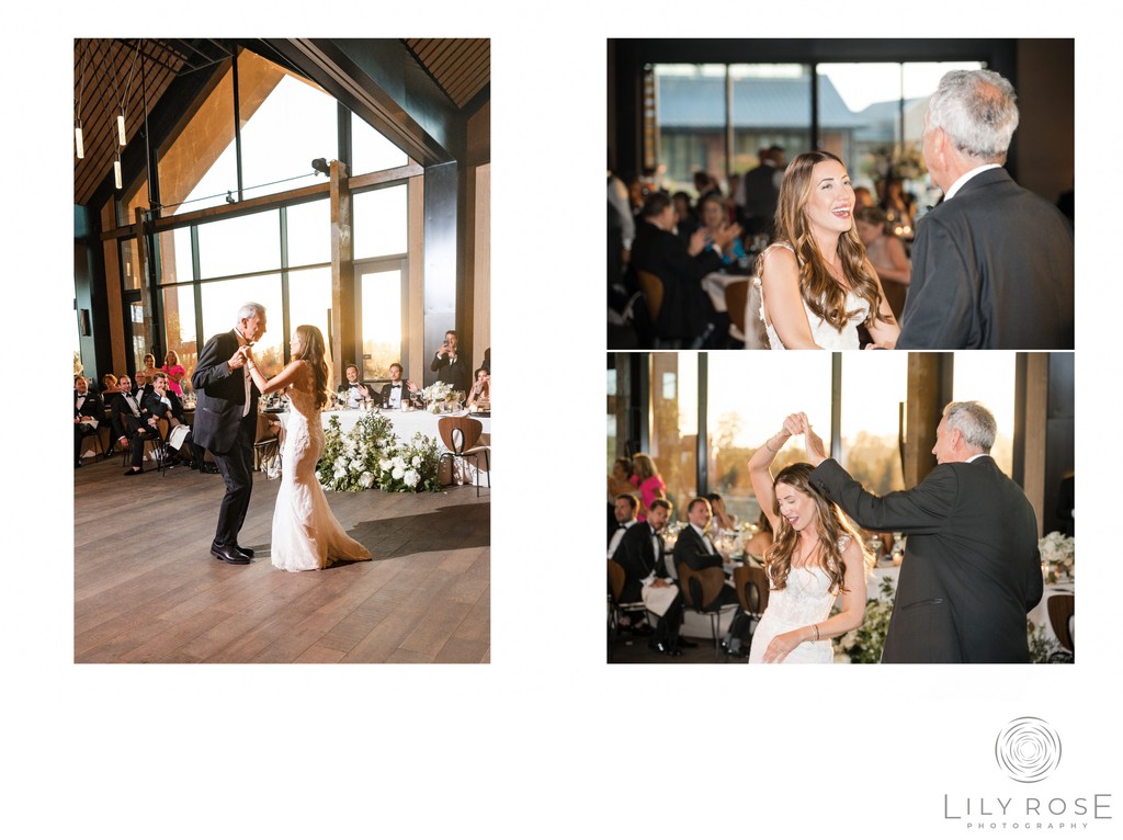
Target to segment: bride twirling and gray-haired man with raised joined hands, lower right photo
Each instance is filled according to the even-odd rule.
[[[878,497],[827,457],[806,414],[788,416],[749,459],[776,535],[765,554],[768,608],[749,661],[830,663],[829,639],[861,624],[871,558],[849,514],[864,528],[909,537],[883,663],[1028,663],[1025,615],[1042,594],[1038,524],[1021,487],[989,456],[996,428],[979,403],[949,403],[932,448],[938,466],[912,490]],[[794,435],[804,436],[812,463],[773,480],[769,467]]]

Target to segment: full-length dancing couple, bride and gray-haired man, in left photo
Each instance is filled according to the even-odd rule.
[[[316,476],[323,451],[320,411],[329,394],[323,336],[316,327],[296,327],[291,339],[292,362],[266,380],[253,353],[254,343],[265,334],[265,323],[264,307],[244,304],[235,328],[203,346],[191,375],[198,394],[195,441],[210,449],[226,482],[211,555],[236,565],[248,564],[254,557],[253,549],[238,545],[238,531],[254,487],[257,398],[287,389],[291,413],[273,511],[273,565],[302,572],[326,568],[336,560],[369,560],[371,553],[348,537],[332,515]]]

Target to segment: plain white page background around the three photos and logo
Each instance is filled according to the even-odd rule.
[[[1107,478],[1120,364],[1105,326],[1117,320],[1120,274],[1107,253],[1119,214],[1117,27],[1090,13],[1058,21],[1065,10],[1054,3],[998,6],[430,2],[403,27],[394,21],[410,9],[320,7],[313,19],[312,7],[293,2],[254,13],[208,1],[190,16],[83,4],[22,24],[2,57],[13,101],[0,135],[11,186],[0,304],[9,393],[0,439],[11,465],[10,550],[0,564],[10,805],[0,821],[18,832],[10,836],[955,837],[966,829],[942,819],[946,793],[1070,803],[1123,794],[1111,652],[1123,559],[1120,493]],[[876,16],[884,22],[869,22]],[[510,468],[493,496],[493,664],[73,665],[72,485],[54,420],[64,416],[58,372],[73,330],[71,39],[135,35],[138,21],[152,35],[492,38],[496,375],[512,400],[581,395],[565,417],[526,398],[519,414],[510,407],[494,419]],[[594,563],[604,471],[605,38],[888,37],[886,26],[910,37],[1077,38],[1080,663],[610,667]],[[39,411],[43,402],[51,404]],[[592,523],[584,541],[574,536],[582,522]],[[577,572],[583,557],[587,578]],[[1065,750],[1035,793],[1004,782],[993,763],[998,731],[1023,715],[1049,721]],[[1108,837],[1115,827],[1117,819],[1067,833]]]

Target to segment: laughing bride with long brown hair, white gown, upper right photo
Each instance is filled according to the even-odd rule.
[[[758,257],[754,281],[772,349],[856,350],[862,323],[870,347],[896,345],[901,328],[866,258],[853,207],[846,166],[829,152],[804,153],[784,172],[776,241]]]

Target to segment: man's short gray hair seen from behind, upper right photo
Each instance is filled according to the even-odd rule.
[[[928,102],[928,125],[942,128],[959,152],[985,163],[1005,163],[1017,128],[1014,85],[993,70],[953,70]]]

